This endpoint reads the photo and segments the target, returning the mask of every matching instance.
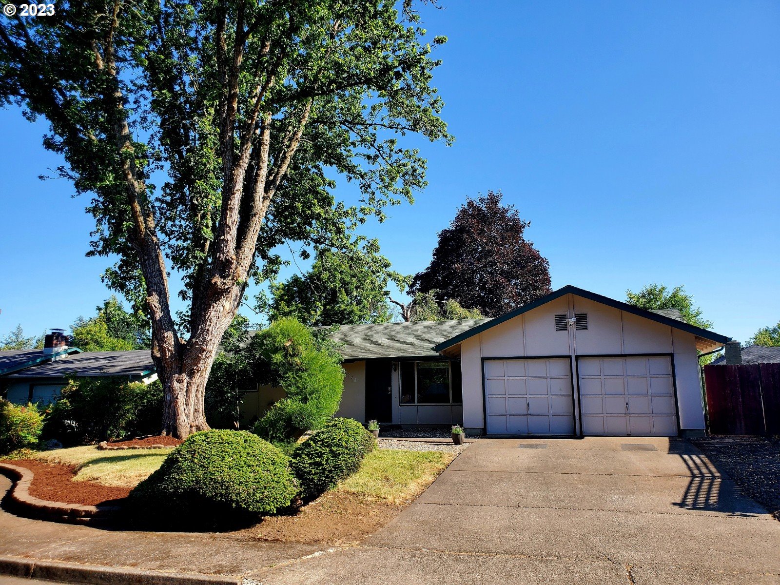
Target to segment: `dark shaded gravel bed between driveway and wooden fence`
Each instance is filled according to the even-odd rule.
[[[780,440],[708,437],[690,440],[715,466],[729,473],[746,495],[780,520]]]

